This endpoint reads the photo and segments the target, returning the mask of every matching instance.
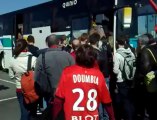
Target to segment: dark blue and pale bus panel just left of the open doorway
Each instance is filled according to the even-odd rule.
[[[89,17],[73,18],[71,25],[71,38],[78,38],[82,35],[82,33],[88,33],[89,28]]]

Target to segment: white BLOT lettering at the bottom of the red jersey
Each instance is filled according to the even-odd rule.
[[[71,116],[71,120],[98,120],[98,115]]]

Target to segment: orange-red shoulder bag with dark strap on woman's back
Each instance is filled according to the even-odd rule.
[[[26,104],[31,104],[39,99],[35,88],[34,88],[34,72],[31,69],[32,56],[28,56],[27,72],[21,77],[21,88],[24,95],[24,100]]]

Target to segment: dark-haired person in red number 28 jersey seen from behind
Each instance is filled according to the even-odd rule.
[[[103,103],[109,120],[115,120],[103,74],[94,67],[96,56],[90,45],[78,48],[77,64],[64,69],[56,89],[53,120],[56,120],[62,107],[66,120],[99,120],[99,103]]]

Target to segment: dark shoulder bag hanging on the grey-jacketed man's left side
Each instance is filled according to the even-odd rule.
[[[40,96],[45,97],[53,93],[51,82],[46,72],[45,52],[42,53],[42,66],[39,70],[38,79],[35,81],[35,89]]]

